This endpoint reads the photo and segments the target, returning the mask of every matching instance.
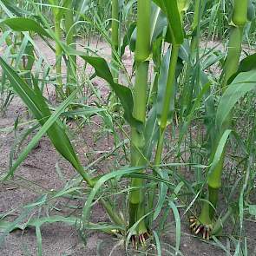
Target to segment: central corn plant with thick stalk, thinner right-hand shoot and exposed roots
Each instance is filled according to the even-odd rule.
[[[172,50],[167,60],[167,79],[161,84],[161,89],[158,89],[157,102],[157,119],[159,126],[159,140],[155,154],[155,166],[161,165],[161,154],[163,151],[163,143],[167,125],[172,122],[172,114],[174,109],[175,96],[175,75],[178,61],[179,50],[184,40],[183,29],[181,26],[181,16],[186,10],[187,1],[182,1],[178,4],[176,1],[154,1],[167,16],[167,29],[170,37],[168,42],[171,43]],[[150,44],[152,32],[150,32],[150,1],[138,1],[137,5],[137,37],[135,46],[135,88],[134,88],[134,111],[135,119],[141,121],[145,127],[146,122],[146,106],[148,102],[147,87],[148,87],[148,58],[150,56]],[[159,11],[156,11],[156,14]],[[164,75],[166,76],[166,75]],[[161,79],[159,80],[161,81]],[[160,85],[159,85],[160,86]],[[145,134],[137,128],[131,128],[131,165],[133,167],[147,165],[147,159],[144,156],[145,151]],[[156,170],[156,173],[159,170]],[[144,174],[146,170],[141,171]],[[145,238],[151,231],[151,226],[148,226],[151,221],[146,221],[147,204],[144,180],[141,178],[132,179],[131,187],[133,190],[129,194],[129,227],[135,225],[135,231],[132,236],[133,242],[136,244],[139,240],[142,244],[145,243]],[[149,192],[149,211],[153,210],[154,206],[155,187]]]

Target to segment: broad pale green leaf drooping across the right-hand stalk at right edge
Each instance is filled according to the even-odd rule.
[[[240,73],[233,82],[228,86],[224,95],[220,99],[217,108],[216,125],[218,128],[223,126],[226,117],[230,111],[246,93],[256,89],[256,72],[255,70]]]

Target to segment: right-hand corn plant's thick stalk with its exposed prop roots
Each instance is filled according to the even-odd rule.
[[[229,80],[239,69],[241,45],[243,40],[243,31],[247,22],[248,2],[238,1],[233,2],[233,16],[232,27],[230,29],[230,39],[228,44],[228,52],[226,62],[222,73],[222,80],[220,82],[221,89],[226,90]],[[216,126],[214,130],[215,138],[212,138],[212,153],[210,156],[210,163],[212,166],[208,169],[207,176],[207,198],[203,201],[201,213],[199,218],[190,218],[191,227],[195,234],[202,233],[204,239],[209,239],[212,234],[220,233],[221,223],[231,214],[230,211],[224,216],[224,220],[215,221],[215,212],[219,200],[219,191],[221,188],[221,176],[223,172],[223,165],[225,160],[225,148],[222,148],[220,154],[220,142],[227,135],[227,129],[230,127],[232,121],[232,114],[226,116],[225,121],[218,123],[215,120]],[[225,141],[226,143],[226,141]],[[217,154],[219,155],[218,161],[214,161]],[[214,161],[214,163],[213,163]]]

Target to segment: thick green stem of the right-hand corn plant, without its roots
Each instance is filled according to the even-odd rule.
[[[231,29],[230,40],[228,44],[228,53],[226,56],[226,63],[223,69],[223,81],[222,81],[222,89],[226,89],[226,85],[228,84],[228,80],[230,77],[235,74],[238,70],[239,62],[240,62],[240,54],[241,54],[241,44],[243,37],[244,26],[247,21],[247,1],[234,0],[233,6],[233,26]],[[228,115],[224,125],[220,128],[219,131],[216,131],[216,141],[213,145],[212,155],[210,157],[210,161],[213,161],[213,156],[216,152],[217,145],[223,132],[225,132],[226,128],[228,128],[232,121],[232,114]],[[213,205],[213,207],[217,206],[218,194],[221,187],[221,176],[223,172],[223,164],[225,160],[225,148],[221,154],[220,161],[217,166],[213,169],[212,173],[208,177],[208,200]],[[213,207],[205,201],[200,214],[200,221],[202,224],[208,224],[208,220],[213,222],[214,219],[214,209]]]

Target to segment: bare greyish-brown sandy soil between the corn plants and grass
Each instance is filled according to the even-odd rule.
[[[38,42],[40,50],[48,58],[49,63],[54,63],[54,55],[45,48],[43,43]],[[100,45],[105,49],[106,56],[109,56],[109,48],[106,45]],[[129,67],[132,66],[131,59],[127,55],[126,61]],[[99,82],[100,83],[100,82]],[[101,85],[101,84],[100,84]],[[104,90],[104,89],[103,89]],[[105,89],[106,90],[106,89]],[[0,119],[1,128],[11,128],[16,120],[17,115],[21,115],[26,120],[26,108],[18,99],[11,102],[6,114]],[[84,164],[89,160],[84,157],[84,153],[95,150],[109,150],[113,147],[111,138],[102,138],[99,141],[94,140],[93,133],[97,131],[97,126],[86,127],[82,130],[82,138],[86,144],[77,142],[78,153],[82,156]],[[9,167],[10,150],[15,141],[13,132],[0,132],[0,171],[3,173]],[[97,158],[98,154],[94,157]],[[102,165],[97,166],[102,172],[108,171],[109,161],[106,160]],[[62,171],[62,179],[56,172],[56,163]],[[110,166],[111,167],[111,166]],[[109,167],[109,168],[110,168]],[[35,201],[43,191],[57,190],[65,185],[75,175],[69,163],[62,160],[59,154],[52,148],[49,140],[44,137],[37,148],[33,149],[29,157],[23,161],[18,168],[14,181],[4,182],[0,187],[0,213],[7,213],[12,209],[16,209],[10,214],[8,220],[14,220],[21,213],[20,208],[24,204]],[[34,182],[33,184],[29,181]],[[40,185],[40,187],[36,186]],[[50,214],[61,214],[68,216],[70,213],[79,214],[82,207],[82,200],[56,200],[52,202],[57,210],[50,210]],[[67,207],[68,206],[68,207]],[[69,207],[72,206],[72,207]],[[74,211],[74,209],[76,210]],[[172,216],[170,218],[173,218]],[[103,212],[102,207],[96,205],[92,214],[92,221],[108,221],[108,217]],[[171,221],[173,221],[171,219]],[[121,240],[116,240],[107,234],[90,232],[87,234],[87,244],[79,236],[75,226],[68,226],[62,223],[45,224],[41,228],[43,239],[43,255],[125,255],[122,246],[118,246]],[[255,240],[256,225],[250,226],[248,237]],[[175,245],[175,234],[168,233],[163,238],[163,248],[169,250],[168,246]],[[222,240],[224,245],[226,240]],[[168,255],[163,249],[162,255]],[[153,252],[153,251],[152,251]],[[221,249],[216,248],[207,242],[202,242],[194,238],[187,226],[187,219],[182,219],[182,236],[181,236],[181,252],[186,256],[197,255],[226,255]],[[0,255],[3,256],[19,256],[19,255],[36,255],[36,232],[34,228],[29,228],[23,232],[17,230],[7,235],[4,243],[1,245]],[[138,253],[129,253],[129,255],[137,255]],[[140,255],[144,255],[141,253]],[[152,255],[152,254],[151,254]]]

